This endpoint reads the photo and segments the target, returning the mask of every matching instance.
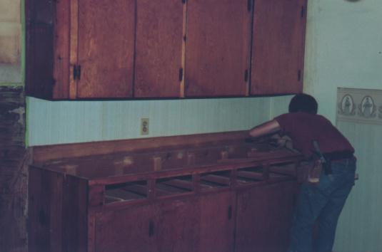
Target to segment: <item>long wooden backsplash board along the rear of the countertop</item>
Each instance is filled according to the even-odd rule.
[[[96,154],[113,154],[156,148],[198,147],[203,144],[217,145],[221,142],[242,142],[248,137],[248,131],[219,132],[197,135],[179,135],[171,137],[151,137],[131,140],[114,140],[103,142],[84,142],[66,145],[45,145],[33,147],[34,163],[53,159],[86,157]]]

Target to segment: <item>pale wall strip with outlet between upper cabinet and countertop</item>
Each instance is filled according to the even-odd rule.
[[[59,101],[28,98],[29,145],[249,130],[269,119],[271,98]],[[141,118],[149,135],[141,136]]]

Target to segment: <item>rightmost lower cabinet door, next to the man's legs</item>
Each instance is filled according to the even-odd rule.
[[[296,182],[238,191],[236,252],[287,251]]]

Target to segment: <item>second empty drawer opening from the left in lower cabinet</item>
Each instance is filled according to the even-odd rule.
[[[192,176],[170,177],[156,180],[156,196],[185,194],[193,191]]]

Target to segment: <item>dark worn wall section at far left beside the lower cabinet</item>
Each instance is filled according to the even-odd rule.
[[[26,251],[28,164],[23,87],[0,87],[0,251]]]

